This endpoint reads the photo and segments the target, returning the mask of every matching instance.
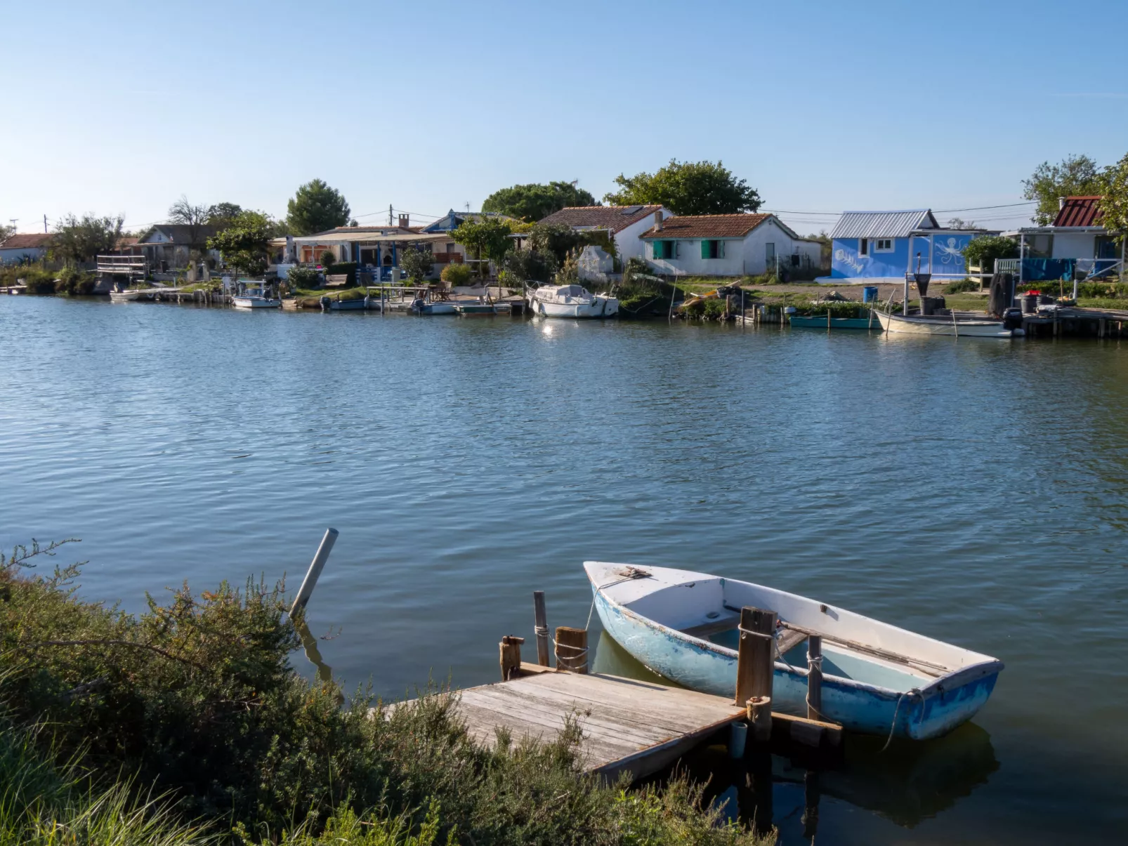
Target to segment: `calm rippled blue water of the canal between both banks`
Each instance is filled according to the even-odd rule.
[[[88,597],[300,579],[333,526],[311,628],[397,696],[494,680],[534,589],[582,626],[584,558],[765,582],[1007,664],[973,724],[823,774],[818,841],[1128,832],[1128,347],[15,297],[0,338],[0,545],[82,538]]]

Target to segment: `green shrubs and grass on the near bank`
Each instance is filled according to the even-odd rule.
[[[69,543],[69,541],[63,541]],[[473,743],[458,694],[395,708],[309,681],[301,614],[248,580],[148,610],[82,600],[61,544],[0,561],[0,843],[767,846],[675,775],[584,775],[582,715],[553,742]]]

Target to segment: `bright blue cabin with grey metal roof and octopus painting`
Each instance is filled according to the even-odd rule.
[[[907,271],[934,279],[963,279],[962,250],[982,229],[944,229],[931,209],[843,212],[830,233],[830,276],[825,281],[902,281]]]

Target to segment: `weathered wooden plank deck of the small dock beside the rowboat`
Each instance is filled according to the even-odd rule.
[[[458,712],[476,740],[492,746],[497,729],[513,740],[550,741],[574,716],[583,739],[585,772],[641,778],[730,724],[744,708],[722,696],[599,673],[585,675],[522,663],[509,681],[460,694]]]

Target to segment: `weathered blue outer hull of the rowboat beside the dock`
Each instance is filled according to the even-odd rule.
[[[610,602],[596,585],[592,589],[603,628],[636,660],[693,690],[733,695],[737,684],[734,650],[655,624]],[[781,661],[775,663],[773,710],[805,716],[807,677],[797,671],[805,670],[805,661],[799,656],[788,660],[793,667]],[[993,669],[978,676],[971,673],[963,681],[953,678],[951,689],[944,689],[944,679],[940,679],[938,684],[898,691],[839,678],[834,672],[832,663],[823,664],[822,714],[826,720],[852,731],[880,735],[891,732],[913,740],[944,734],[971,719],[987,702],[998,678],[998,669]]]

